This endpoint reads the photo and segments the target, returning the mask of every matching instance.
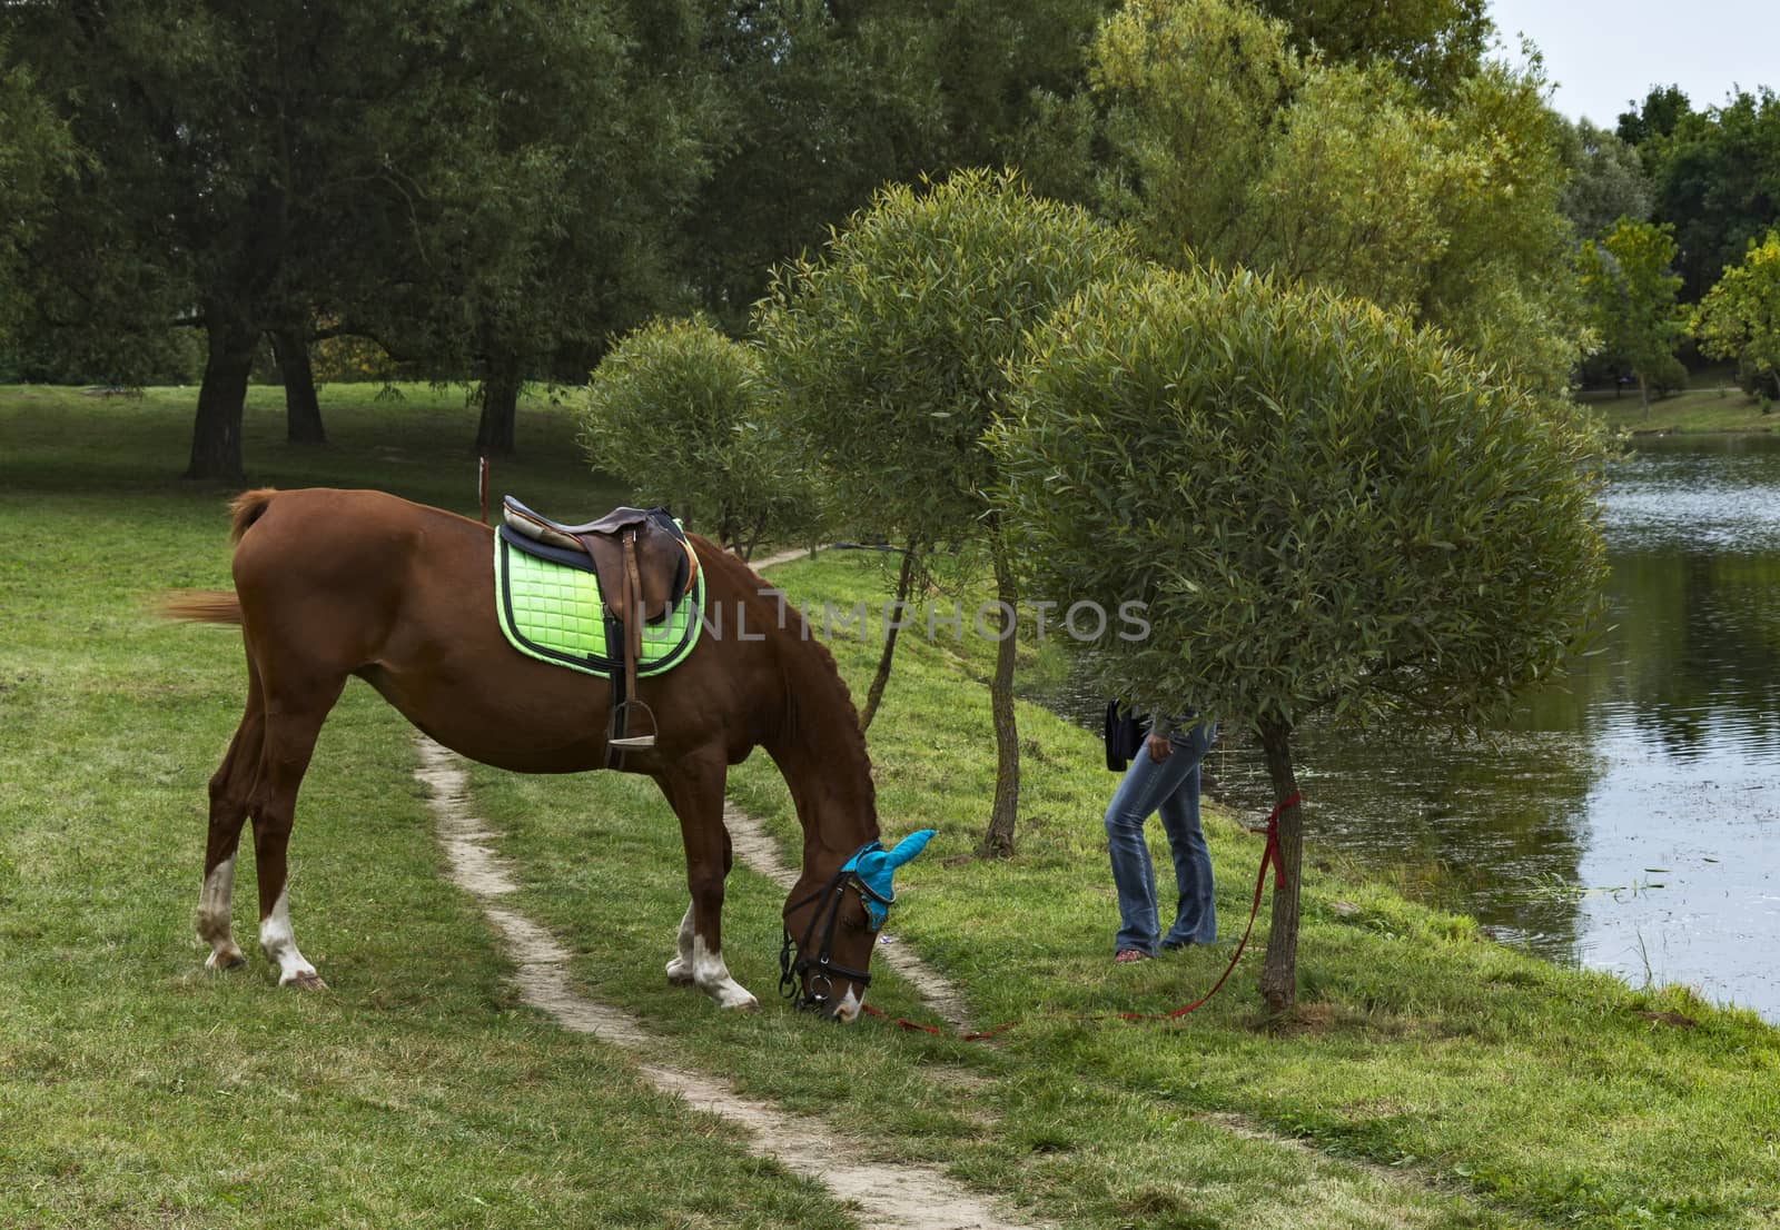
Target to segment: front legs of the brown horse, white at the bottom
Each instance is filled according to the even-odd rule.
[[[758,1007],[760,1000],[730,977],[723,959],[723,883],[733,865],[730,833],[723,826],[726,776],[728,765],[716,755],[685,757],[655,778],[680,817],[685,885],[692,895],[680,920],[678,952],[668,963],[668,981],[698,986],[719,1007]]]

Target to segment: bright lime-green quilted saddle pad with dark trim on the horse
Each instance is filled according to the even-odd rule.
[[[637,676],[673,669],[698,644],[705,609],[705,570],[692,591],[662,619],[643,625]],[[507,643],[541,662],[612,678],[623,675],[623,643],[607,627],[600,580],[587,568],[541,559],[495,534],[495,611]]]

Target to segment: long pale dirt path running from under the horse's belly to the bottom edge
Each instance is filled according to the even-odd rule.
[[[653,1052],[659,1040],[637,1018],[575,991],[568,979],[570,954],[550,931],[500,904],[518,885],[490,849],[495,835],[468,810],[457,758],[431,739],[420,737],[418,744],[420,769],[415,776],[431,790],[429,803],[438,821],[440,844],[450,860],[452,879],[481,901],[482,913],[500,933],[516,967],[513,983],[520,988],[520,997],[564,1029],[595,1034],[630,1050]],[[694,1109],[740,1123],[751,1134],[755,1153],[776,1157],[799,1175],[824,1184],[838,1200],[858,1207],[872,1226],[1024,1230],[1043,1225],[1007,1221],[984,1196],[933,1168],[867,1161],[863,1145],[838,1136],[833,1127],[742,1098],[719,1080],[648,1059],[637,1070],[659,1089],[685,1098]]]

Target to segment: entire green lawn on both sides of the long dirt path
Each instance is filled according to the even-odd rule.
[[[441,876],[411,732],[358,684],[292,838],[297,936],[333,990],[279,991],[258,954],[233,975],[201,970],[205,780],[239,717],[240,651],[230,630],[144,611],[160,589],[228,577],[226,493],[174,477],[192,399],[0,390],[0,1225],[872,1225],[651,1091],[630,1056],[518,1006],[475,904]],[[329,390],[324,415],[335,443],[287,447],[276,392],[256,390],[253,481],[473,511],[461,395],[388,406]],[[562,516],[618,497],[545,406],[522,408],[520,449],[497,491]],[[773,580],[851,605],[881,573],[835,554]],[[1314,847],[1294,1020],[1262,1020],[1258,954],[1182,1024],[1086,1020],[1209,986],[1258,840],[1210,817],[1225,942],[1114,967],[1100,833],[1114,778],[1089,735],[1022,707],[1020,854],[967,856],[991,792],[988,648],[904,634],[870,746],[886,835],[940,829],[899,872],[892,929],[979,1022],[1022,1020],[1000,1043],[783,1007],[781,894],[742,869],[726,956],[764,1011],[668,988],[684,865],[643,780],[473,769],[473,805],[522,881],[513,904],[577,952],[586,993],[664,1038],[662,1057],[1061,1225],[1780,1223],[1775,1029],[1506,951],[1465,918],[1315,870]],[[858,694],[876,644],[835,650]],[[732,796],[794,860],[765,757],[732,774]],[[1307,824],[1314,842],[1314,797]],[[237,938],[253,918],[242,867]],[[929,1020],[886,970],[872,1002]],[[1663,1013],[1693,1024],[1650,1018]]]

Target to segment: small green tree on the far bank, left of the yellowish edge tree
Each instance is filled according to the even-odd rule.
[[[1680,278],[1673,228],[1622,217],[1600,240],[1582,240],[1577,278],[1590,308],[1590,324],[1618,363],[1638,376],[1645,413],[1650,383],[1675,365],[1675,345],[1686,319],[1675,304]]]

